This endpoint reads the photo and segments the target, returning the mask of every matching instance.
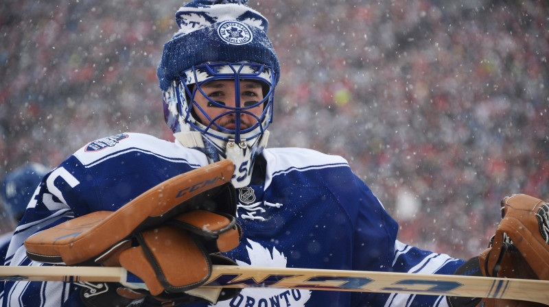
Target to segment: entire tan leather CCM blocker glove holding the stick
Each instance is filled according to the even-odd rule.
[[[177,304],[228,299],[239,290],[212,294],[195,288],[208,280],[213,262],[235,265],[213,255],[237,247],[242,235],[234,217],[232,175],[229,160],[178,175],[115,212],[92,212],[30,236],[25,241],[27,256],[66,265],[121,266],[148,288],[83,284],[82,297],[89,306],[112,303],[113,298],[121,304],[126,304],[125,298],[131,302],[145,297]]]

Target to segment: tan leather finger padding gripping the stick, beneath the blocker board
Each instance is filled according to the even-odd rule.
[[[173,225],[171,221],[178,221]],[[165,226],[136,234],[138,246],[119,253],[119,263],[128,271],[139,276],[152,295],[162,291],[181,293],[196,288],[211,275],[209,254],[220,250],[208,250],[204,235],[215,238],[217,245],[231,250],[238,246],[242,232],[233,217],[225,217],[205,210],[194,210],[180,214]],[[202,231],[200,237],[180,225],[191,225]]]

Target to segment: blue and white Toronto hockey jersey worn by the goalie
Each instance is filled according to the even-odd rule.
[[[28,236],[90,212],[117,210],[148,188],[207,163],[196,149],[146,134],[89,143],[44,177],[5,264],[43,265],[26,257]],[[252,182],[237,192],[244,236],[226,256],[238,265],[452,274],[463,263],[397,241],[397,223],[339,156],[265,149]],[[83,306],[79,292],[79,286],[62,282],[5,282],[1,299],[2,306]],[[444,297],[428,295],[248,288],[215,306],[447,305]]]

